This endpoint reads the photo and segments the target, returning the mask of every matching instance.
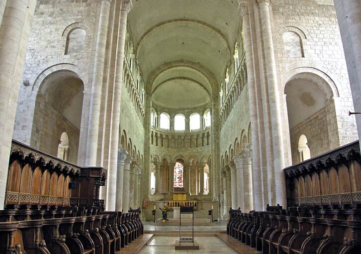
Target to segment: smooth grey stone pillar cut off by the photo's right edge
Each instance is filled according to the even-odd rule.
[[[334,0],[355,112],[361,112],[361,1]],[[361,137],[361,115],[355,115]],[[361,139],[359,140],[361,143]]]

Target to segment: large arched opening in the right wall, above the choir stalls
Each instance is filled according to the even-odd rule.
[[[323,78],[314,73],[298,73],[286,83],[284,93],[293,163],[300,161],[300,140],[302,145],[307,144],[307,138],[312,140],[304,153],[307,158],[339,146],[333,92]]]

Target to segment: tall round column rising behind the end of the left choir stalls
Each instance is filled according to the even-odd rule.
[[[101,91],[104,76],[106,38],[108,34],[111,0],[101,0],[98,33],[96,38],[93,79],[91,84],[86,166],[96,166],[98,147]]]

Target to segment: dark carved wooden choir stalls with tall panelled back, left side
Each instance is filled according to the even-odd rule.
[[[1,254],[115,254],[144,233],[140,209],[105,212],[101,167],[79,167],[12,142]]]

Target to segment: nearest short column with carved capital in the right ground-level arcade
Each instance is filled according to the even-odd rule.
[[[253,210],[253,191],[252,191],[252,169],[251,153],[247,150],[242,151],[242,168],[243,168],[243,194],[244,210],[246,213]]]

